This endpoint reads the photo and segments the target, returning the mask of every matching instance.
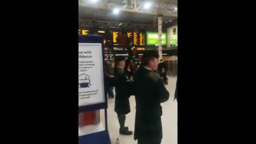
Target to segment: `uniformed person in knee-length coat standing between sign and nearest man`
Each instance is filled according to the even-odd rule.
[[[115,70],[114,70],[114,82],[115,82],[115,111],[117,113],[118,122],[120,125],[119,133],[123,135],[131,135],[132,131],[129,131],[129,127],[125,127],[126,114],[130,113],[130,90],[131,83],[124,74],[125,58],[115,58]]]

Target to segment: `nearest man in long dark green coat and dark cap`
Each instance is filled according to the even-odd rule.
[[[138,144],[159,144],[163,138],[161,102],[169,99],[169,92],[165,89],[161,76],[155,72],[158,57],[158,53],[154,51],[145,53],[141,67],[134,75],[134,140],[138,140]]]

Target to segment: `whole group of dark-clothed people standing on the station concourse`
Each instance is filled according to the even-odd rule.
[[[120,134],[133,134],[125,126],[125,115],[131,111],[129,98],[135,96],[134,140],[138,140],[138,144],[160,144],[163,138],[161,103],[169,100],[170,94],[165,87],[168,84],[166,65],[163,60],[158,63],[158,58],[157,52],[148,51],[143,54],[140,65],[125,57],[115,57],[115,61],[105,63],[109,98],[114,98],[115,87]],[[176,88],[174,98],[178,101],[177,97]]]

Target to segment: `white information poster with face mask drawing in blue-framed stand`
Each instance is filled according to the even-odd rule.
[[[101,43],[78,44],[78,106],[105,102]]]

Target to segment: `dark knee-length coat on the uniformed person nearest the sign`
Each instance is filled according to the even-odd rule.
[[[130,87],[131,83],[128,81],[127,76],[125,76],[123,69],[115,69],[114,81],[116,91],[115,111],[120,115],[128,114],[131,111],[129,102],[131,93],[129,93],[129,90],[132,88]]]

